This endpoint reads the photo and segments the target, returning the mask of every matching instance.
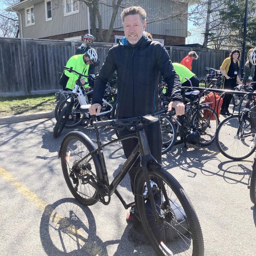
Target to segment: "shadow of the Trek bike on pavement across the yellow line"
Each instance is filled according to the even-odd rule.
[[[107,220],[104,223],[108,225]],[[152,255],[150,246],[135,248],[134,243],[129,241],[129,228],[127,225],[120,239],[103,242],[97,235],[95,218],[89,207],[74,198],[64,198],[45,207],[40,221],[40,239],[47,255],[146,256],[149,251]],[[116,247],[116,244],[115,252],[109,253],[107,246]]]

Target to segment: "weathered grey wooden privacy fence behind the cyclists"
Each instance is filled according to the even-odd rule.
[[[81,42],[63,40],[0,38],[0,96],[44,94],[56,92],[60,72],[75,54]],[[99,71],[112,43],[93,43],[100,59]],[[205,67],[218,69],[225,58],[225,50],[211,50],[170,46],[170,59],[180,62],[189,51],[195,50],[199,59],[192,63],[192,72],[204,78]],[[129,67],[127,67],[129,68]]]

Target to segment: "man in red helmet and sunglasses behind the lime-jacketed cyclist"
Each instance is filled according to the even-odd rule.
[[[95,40],[95,37],[91,34],[86,34],[83,36],[83,42],[80,47],[78,47],[75,50],[75,55],[77,54],[85,54],[90,48]],[[98,58],[97,61],[93,64],[90,65],[88,74],[91,75],[92,77],[95,77],[95,67],[97,67],[100,64],[100,59]],[[89,81],[89,86],[90,88],[93,88],[92,81]]]

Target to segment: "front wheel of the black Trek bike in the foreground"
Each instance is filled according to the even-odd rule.
[[[157,255],[204,255],[203,235],[182,186],[161,167],[148,168],[159,224],[154,219],[143,172],[135,180],[136,206]]]

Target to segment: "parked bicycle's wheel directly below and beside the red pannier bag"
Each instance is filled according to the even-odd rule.
[[[198,142],[199,145],[208,146],[214,141],[218,127],[218,117],[211,107],[200,107],[198,111],[193,114],[191,124],[195,126],[200,133],[201,138]]]

